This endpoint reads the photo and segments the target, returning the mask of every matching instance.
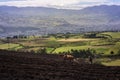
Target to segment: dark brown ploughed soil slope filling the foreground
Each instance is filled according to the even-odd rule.
[[[120,80],[120,67],[77,64],[59,55],[0,50],[0,80]]]

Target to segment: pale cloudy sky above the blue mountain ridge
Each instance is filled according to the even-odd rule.
[[[81,9],[95,5],[120,5],[120,0],[0,0],[0,5],[26,7],[42,6],[66,9]]]

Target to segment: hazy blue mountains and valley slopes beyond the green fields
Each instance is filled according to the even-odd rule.
[[[0,6],[0,36],[120,30],[120,6],[82,10]]]

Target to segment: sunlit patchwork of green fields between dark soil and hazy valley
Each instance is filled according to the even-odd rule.
[[[0,49],[34,51],[37,52],[41,48],[46,48],[49,54],[58,54],[60,52],[68,52],[74,50],[93,49],[95,54],[117,55],[120,50],[120,32],[101,32],[95,33],[96,36],[91,37],[85,34],[56,34],[45,37],[32,37],[26,39],[10,39],[9,44],[6,39],[0,40]],[[69,37],[68,37],[69,36]],[[113,54],[111,54],[111,51]],[[105,65],[115,65],[120,63],[119,59],[109,63],[103,62]]]

